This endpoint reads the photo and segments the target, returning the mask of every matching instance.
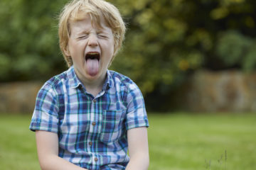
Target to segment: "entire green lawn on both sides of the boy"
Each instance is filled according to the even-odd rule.
[[[40,169],[30,119],[0,115],[0,169]],[[149,123],[149,170],[256,169],[256,115],[149,114]]]

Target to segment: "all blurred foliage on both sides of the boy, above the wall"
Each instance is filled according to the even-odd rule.
[[[57,33],[66,1],[0,1],[1,81],[46,80],[66,69]],[[128,28],[111,69],[131,77],[144,94],[165,94],[202,67],[255,69],[255,1],[110,2]]]

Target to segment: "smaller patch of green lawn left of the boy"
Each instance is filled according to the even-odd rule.
[[[40,169],[30,115],[0,115],[0,169]]]

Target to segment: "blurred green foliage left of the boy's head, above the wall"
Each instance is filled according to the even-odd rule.
[[[46,79],[65,67],[58,48],[56,18],[63,3],[0,2],[1,80]]]

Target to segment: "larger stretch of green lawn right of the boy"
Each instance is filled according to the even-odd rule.
[[[255,115],[149,118],[151,170],[256,169]]]

